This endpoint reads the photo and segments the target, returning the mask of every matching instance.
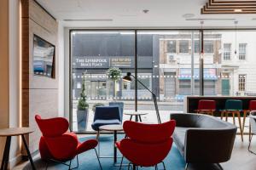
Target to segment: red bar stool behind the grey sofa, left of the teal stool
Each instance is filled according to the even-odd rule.
[[[207,115],[214,116],[216,111],[216,101],[212,99],[200,99],[198,102],[198,108],[195,110],[197,113],[205,113]]]

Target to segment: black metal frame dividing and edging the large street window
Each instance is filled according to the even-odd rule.
[[[69,122],[73,122],[72,118],[72,108],[73,108],[73,102],[72,102],[72,63],[71,63],[71,33],[72,31],[134,31],[135,33],[135,77],[137,77],[137,31],[198,31],[201,32],[201,35],[203,36],[204,31],[234,31],[234,28],[192,28],[192,29],[185,29],[185,28],[93,28],[93,29],[86,29],[86,28],[75,28],[75,29],[69,29]],[[256,31],[255,28],[237,28],[237,31]],[[203,37],[201,38],[201,44],[203,44]],[[203,45],[202,45],[203,48]],[[202,49],[201,48],[201,49]],[[203,65],[203,62],[201,63]],[[201,73],[200,69],[200,75],[203,75],[203,70]],[[201,89],[201,95],[204,95],[204,87],[203,87],[204,79],[202,77],[200,88]],[[135,82],[135,111],[137,111],[137,82]],[[138,120],[137,120],[138,121]],[[72,123],[70,123],[70,129],[73,131]],[[84,132],[88,133],[88,132]]]

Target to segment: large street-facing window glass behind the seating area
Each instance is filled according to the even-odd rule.
[[[170,112],[182,112],[185,96],[200,94],[200,34],[200,31],[71,31],[73,131],[79,130],[77,105],[83,78],[89,103],[83,131],[91,130],[96,105],[118,101],[124,103],[124,113],[135,111],[136,91],[137,111],[148,113],[142,117],[143,122],[157,122],[152,95],[140,83],[136,88],[134,81],[123,82],[121,77],[126,72],[134,76],[137,72],[138,80],[156,94],[162,122],[169,120]],[[204,95],[256,93],[252,86],[256,71],[249,71],[256,62],[254,34],[256,31],[237,31],[235,47],[235,31],[204,31]],[[243,62],[238,64],[239,60]],[[108,77],[109,68],[121,71],[115,81]],[[124,121],[129,118],[124,116]]]

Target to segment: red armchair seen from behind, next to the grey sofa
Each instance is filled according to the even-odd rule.
[[[133,164],[133,167],[156,167],[172,148],[172,133],[175,121],[162,124],[143,124],[126,121],[126,138],[116,143],[120,152]],[[123,160],[122,160],[123,161]],[[166,169],[166,167],[165,167]]]

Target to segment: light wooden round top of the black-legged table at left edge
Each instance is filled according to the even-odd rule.
[[[0,136],[19,136],[32,132],[34,132],[34,130],[30,127],[10,127],[0,129]]]

